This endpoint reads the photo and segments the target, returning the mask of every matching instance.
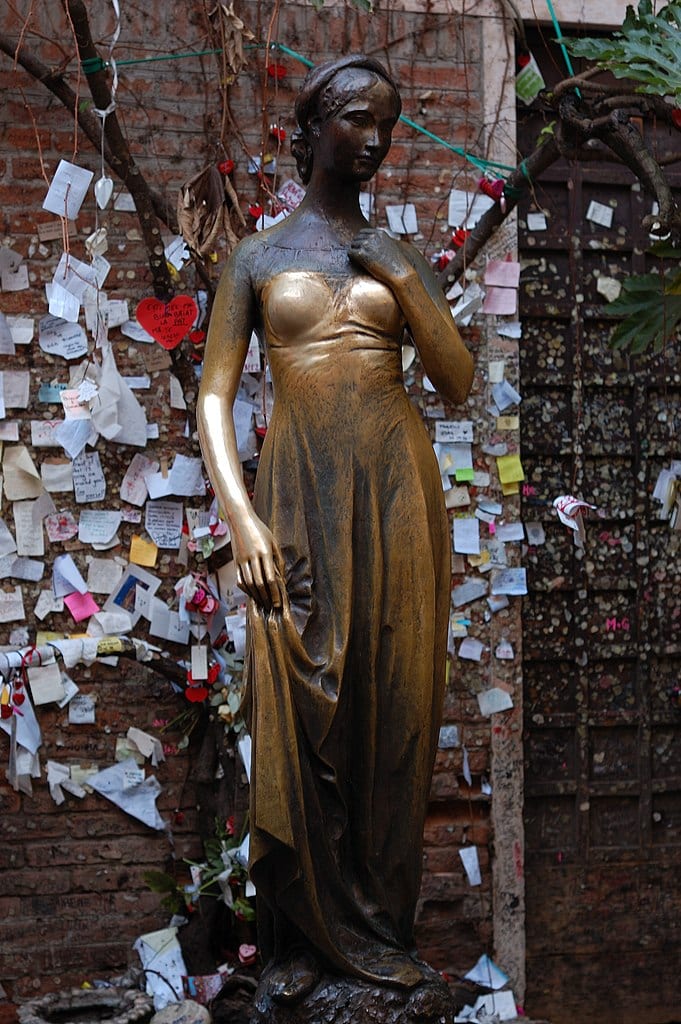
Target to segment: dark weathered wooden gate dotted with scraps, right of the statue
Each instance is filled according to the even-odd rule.
[[[525,116],[521,146],[536,130]],[[651,497],[681,458],[681,344],[612,352],[597,290],[650,268],[650,210],[595,162],[555,165],[520,211],[523,518],[546,529],[525,558],[526,1006],[552,1024],[681,1020],[681,532]],[[564,494],[603,516],[583,555],[551,508]]]

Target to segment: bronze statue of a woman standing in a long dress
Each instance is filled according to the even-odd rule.
[[[280,1019],[278,1008],[307,1020],[303,1005],[329,979],[412,1002],[438,983],[413,926],[451,540],[432,445],[402,383],[405,332],[450,401],[466,398],[473,365],[426,261],[359,208],[400,105],[370,57],[307,75],[294,141],[305,199],[229,257],[204,362],[203,453],[249,597],[262,1020]],[[274,406],[251,504],[231,407],[253,330]]]

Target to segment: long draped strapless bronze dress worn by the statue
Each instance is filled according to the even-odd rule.
[[[265,955],[410,988],[445,678],[451,546],[403,318],[368,274],[275,273],[260,308],[274,408],[254,504],[288,602],[250,602],[251,877]],[[279,939],[278,939],[279,936]]]

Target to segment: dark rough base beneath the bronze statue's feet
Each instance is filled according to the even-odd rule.
[[[325,975],[292,1005],[275,1002],[260,985],[251,1024],[452,1024],[454,1011],[440,979],[405,990]]]

